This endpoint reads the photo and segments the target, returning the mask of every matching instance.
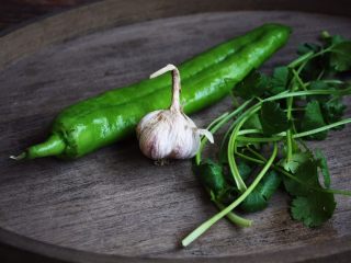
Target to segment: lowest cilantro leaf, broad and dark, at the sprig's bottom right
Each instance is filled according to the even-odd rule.
[[[319,227],[327,221],[336,209],[332,194],[314,191],[307,196],[293,199],[291,213],[296,220],[303,221],[307,227]]]

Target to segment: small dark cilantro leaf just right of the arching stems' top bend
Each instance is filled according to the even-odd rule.
[[[290,127],[286,113],[276,102],[268,101],[262,104],[260,121],[263,133],[267,135],[279,134]]]

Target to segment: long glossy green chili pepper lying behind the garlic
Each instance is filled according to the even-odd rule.
[[[225,96],[282,47],[290,33],[287,26],[265,24],[182,64],[184,112],[196,112]],[[162,76],[71,105],[56,117],[46,141],[27,148],[15,159],[77,158],[125,138],[144,115],[169,106],[170,85],[171,78]]]

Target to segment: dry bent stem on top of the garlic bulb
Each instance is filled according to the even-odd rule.
[[[181,106],[180,106],[181,84],[180,84],[180,72],[178,68],[174,65],[169,64],[166,67],[161,68],[160,70],[156,71],[155,73],[150,75],[150,79],[156,78],[160,75],[163,75],[168,71],[172,71],[172,103],[171,103],[170,110],[181,112]]]

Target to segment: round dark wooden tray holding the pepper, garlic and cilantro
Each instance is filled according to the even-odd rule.
[[[264,2],[264,3],[263,3]],[[8,159],[45,138],[65,106],[146,78],[265,22],[294,28],[263,69],[286,64],[298,43],[321,30],[351,37],[347,3],[312,1],[102,1],[35,22],[0,38],[0,259],[23,262],[297,262],[351,256],[351,201],[324,227],[293,221],[288,197],[248,215],[249,229],[226,220],[186,249],[180,240],[216,213],[189,161],[154,167],[135,139],[76,161]],[[317,14],[296,11],[316,11]],[[337,7],[337,8],[336,8]],[[259,11],[260,9],[290,11]],[[242,11],[253,10],[253,11]],[[294,11],[291,11],[294,10]],[[149,21],[150,20],[150,21]],[[205,126],[224,100],[193,115]],[[348,112],[350,114],[350,110]],[[314,144],[327,152],[336,188],[350,188],[350,127]]]

